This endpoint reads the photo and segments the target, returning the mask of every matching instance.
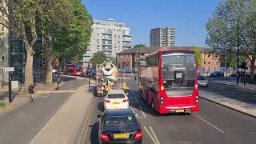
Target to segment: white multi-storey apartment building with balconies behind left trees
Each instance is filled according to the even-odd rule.
[[[97,51],[103,51],[108,58],[115,57],[117,53],[130,49],[132,34],[130,27],[122,22],[114,22],[114,19],[94,19],[93,32],[90,38],[90,46],[83,54],[83,66],[87,66],[90,58]]]

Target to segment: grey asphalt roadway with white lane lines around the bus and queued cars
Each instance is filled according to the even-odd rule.
[[[129,80],[127,80],[129,81]],[[138,114],[146,144],[254,144],[256,119],[234,110],[201,99],[201,110],[192,114],[155,114],[140,98],[134,81],[127,82],[130,108]],[[222,88],[222,89],[220,89]],[[230,89],[211,86],[203,91],[228,94]],[[243,94],[243,92],[232,92]],[[248,93],[250,95],[250,93]],[[98,114],[103,111],[103,98],[94,98],[90,126],[85,135],[86,144],[98,143]]]

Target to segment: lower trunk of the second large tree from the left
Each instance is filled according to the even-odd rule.
[[[52,58],[46,56],[46,86],[52,86],[53,84],[53,66]]]

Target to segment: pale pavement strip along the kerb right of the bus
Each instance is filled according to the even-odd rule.
[[[219,105],[226,106],[232,110],[236,110],[251,117],[256,118],[256,105],[245,102],[240,102],[232,98],[226,98],[218,94],[213,94],[206,91],[199,92],[200,98],[206,99],[210,102],[218,103]]]

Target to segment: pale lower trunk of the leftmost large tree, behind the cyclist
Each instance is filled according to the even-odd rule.
[[[34,52],[32,49],[32,46],[27,45],[26,50],[26,70],[25,70],[25,90],[27,91],[28,87],[31,84],[34,84],[33,79],[33,58],[34,58]]]

